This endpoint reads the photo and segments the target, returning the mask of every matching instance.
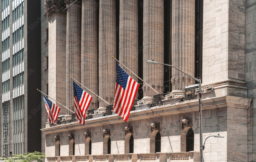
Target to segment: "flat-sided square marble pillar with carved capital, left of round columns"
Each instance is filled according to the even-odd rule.
[[[64,1],[49,1],[45,5],[48,16],[48,95],[66,105],[66,28],[67,11],[60,10]],[[58,12],[56,12],[58,11]],[[54,102],[55,103],[55,102]],[[60,104],[56,103],[62,107]],[[59,115],[65,115],[60,109]]]

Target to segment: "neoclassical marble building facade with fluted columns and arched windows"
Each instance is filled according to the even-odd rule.
[[[42,91],[72,110],[70,75],[112,104],[91,94],[84,126],[42,109],[47,161],[200,161],[198,82],[147,60],[202,79],[203,140],[224,136],[204,161],[256,160],[256,2],[41,0],[41,17]],[[128,72],[140,88],[127,122],[111,111],[112,56],[150,85]]]

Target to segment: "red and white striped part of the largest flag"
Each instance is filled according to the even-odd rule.
[[[113,111],[127,121],[139,85],[130,76],[128,77],[125,90],[118,83],[115,85],[115,99]]]

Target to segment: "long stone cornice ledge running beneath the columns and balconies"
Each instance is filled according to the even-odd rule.
[[[250,108],[252,99],[234,96],[220,96],[202,99],[202,110],[215,109],[221,107],[234,107],[248,109]],[[154,117],[161,117],[173,114],[181,114],[198,111],[198,100],[180,102],[173,105],[157,106],[151,109],[131,111],[128,122],[141,119],[150,119]],[[41,129],[42,133],[50,134],[60,131],[77,130],[82,128],[91,128],[95,126],[103,126],[108,124],[123,123],[118,115],[103,116],[94,119],[86,120],[84,126],[78,122],[71,122],[69,124],[60,125],[59,127],[50,127]]]

